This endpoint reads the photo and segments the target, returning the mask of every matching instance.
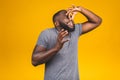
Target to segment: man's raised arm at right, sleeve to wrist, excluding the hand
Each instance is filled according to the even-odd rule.
[[[88,21],[82,23],[82,34],[95,29],[97,26],[101,24],[102,19],[99,16],[89,11],[88,9],[85,9],[83,7],[80,8],[81,8],[80,13],[82,13],[88,19]]]

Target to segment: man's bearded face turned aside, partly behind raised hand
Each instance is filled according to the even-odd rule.
[[[75,30],[75,24],[73,20],[70,20],[66,15],[60,15],[58,20],[59,26],[68,30],[68,32],[72,32]]]

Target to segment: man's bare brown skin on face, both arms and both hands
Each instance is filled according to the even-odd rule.
[[[72,16],[71,16],[71,12],[72,12]],[[67,13],[65,14],[66,16],[62,16],[60,15],[60,20],[62,19],[62,21],[67,24],[68,22],[70,22],[71,20],[73,20],[75,14],[79,12],[81,14],[83,14],[88,21],[82,23],[82,34],[85,34],[87,32],[90,32],[91,30],[95,29],[96,27],[98,27],[101,24],[101,18],[99,16],[97,16],[96,14],[94,14],[93,12],[89,11],[88,9],[85,9],[81,6],[73,6],[72,8],[69,8],[67,10]],[[64,15],[64,14],[63,14]],[[69,33],[64,30],[61,29],[60,25],[59,25],[59,20],[57,20],[56,22],[54,22],[55,26],[57,27],[59,34],[57,37],[57,41],[56,44],[53,48],[47,50],[46,48],[36,45],[32,54],[32,64],[34,66],[46,63],[47,61],[49,61],[52,57],[54,57],[54,55],[63,47],[63,44],[69,40],[65,40],[63,39],[65,36],[67,36]],[[70,28],[72,28],[72,25],[69,25]]]

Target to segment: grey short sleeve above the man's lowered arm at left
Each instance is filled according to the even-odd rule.
[[[43,31],[40,33],[38,40],[37,40],[37,45],[47,48],[48,46],[47,31]]]

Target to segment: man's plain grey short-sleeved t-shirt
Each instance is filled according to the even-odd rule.
[[[76,24],[75,31],[65,37],[70,40],[64,43],[62,49],[45,63],[45,80],[79,80],[77,48],[81,28],[81,24]],[[57,36],[56,28],[42,31],[37,45],[49,50],[55,46]]]

